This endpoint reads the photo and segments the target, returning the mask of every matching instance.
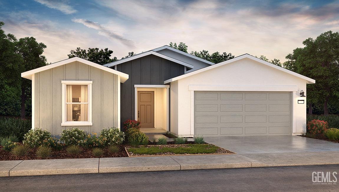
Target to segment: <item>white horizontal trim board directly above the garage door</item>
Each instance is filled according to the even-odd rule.
[[[298,91],[297,85],[188,85],[188,91]]]

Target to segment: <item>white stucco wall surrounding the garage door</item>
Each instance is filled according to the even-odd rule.
[[[194,134],[194,91],[290,91],[292,133],[305,133],[306,99],[297,104],[300,90],[306,95],[306,80],[252,59],[240,59],[171,82],[171,132]]]

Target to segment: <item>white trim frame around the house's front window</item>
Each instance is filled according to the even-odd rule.
[[[92,126],[92,83],[93,81],[61,81],[62,83],[62,122],[61,126]],[[66,121],[66,85],[88,86],[88,121]],[[79,103],[81,104],[81,103]]]

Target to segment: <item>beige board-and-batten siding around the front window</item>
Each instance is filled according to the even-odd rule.
[[[53,135],[78,127],[88,133],[102,128],[118,127],[118,75],[74,61],[34,75],[35,127],[47,129]],[[61,126],[62,80],[93,81],[93,126]]]

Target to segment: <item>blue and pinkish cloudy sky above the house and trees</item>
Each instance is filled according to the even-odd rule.
[[[120,59],[169,42],[285,61],[303,40],[339,31],[339,0],[0,0],[0,21],[43,42],[52,63],[76,47],[108,47]]]

